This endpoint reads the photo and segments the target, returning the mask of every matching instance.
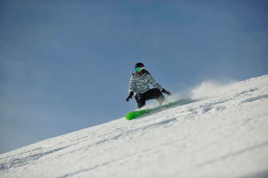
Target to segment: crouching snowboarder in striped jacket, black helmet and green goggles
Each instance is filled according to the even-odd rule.
[[[126,101],[132,99],[134,95],[138,108],[145,106],[145,101],[156,99],[161,105],[165,100],[162,93],[171,95],[166,91],[155,79],[151,76],[149,71],[145,70],[145,66],[142,63],[135,65],[135,73],[132,74],[129,82],[129,95]],[[149,83],[154,87],[150,89]],[[161,93],[162,92],[162,93]]]

